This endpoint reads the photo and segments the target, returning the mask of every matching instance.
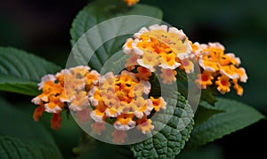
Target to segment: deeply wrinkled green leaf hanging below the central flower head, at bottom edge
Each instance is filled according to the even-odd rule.
[[[177,91],[171,90],[173,89],[164,89],[170,97],[165,98],[166,110],[159,113],[158,119],[152,120],[155,126],[153,136],[131,146],[135,157],[174,158],[190,138],[190,131],[193,129],[193,111],[186,99]],[[172,96],[176,96],[178,99],[173,99]],[[158,130],[162,124],[165,124],[163,121],[166,119],[168,120],[166,125],[163,126],[163,129]]]

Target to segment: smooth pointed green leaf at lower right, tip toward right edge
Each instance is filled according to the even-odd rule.
[[[264,118],[255,108],[246,104],[232,99],[217,99],[218,101],[214,107],[206,102],[202,102],[201,105],[208,109],[223,112],[212,115],[206,122],[196,125],[191,133],[187,147],[199,147]]]

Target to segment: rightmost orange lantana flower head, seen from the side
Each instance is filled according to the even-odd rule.
[[[192,44],[192,57],[195,58],[202,69],[196,82],[202,89],[215,85],[222,94],[231,91],[231,85],[240,96],[243,88],[239,82],[247,82],[245,68],[240,68],[240,59],[234,53],[225,53],[222,44]]]

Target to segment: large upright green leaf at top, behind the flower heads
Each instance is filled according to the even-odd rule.
[[[158,8],[144,4],[131,9],[119,6],[113,1],[96,1],[77,14],[70,29],[73,59],[69,59],[67,68],[87,65],[90,60],[89,66],[100,71],[112,55],[122,50],[127,38],[142,27],[161,22]]]

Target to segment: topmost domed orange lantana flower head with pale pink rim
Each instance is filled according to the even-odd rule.
[[[163,83],[176,81],[176,68],[184,69],[186,73],[194,71],[190,60],[190,41],[177,28],[167,28],[166,25],[141,28],[134,34],[134,39],[127,39],[123,50],[125,54],[131,55],[126,60],[126,68],[132,70],[135,66],[140,66],[150,72],[160,69]]]

